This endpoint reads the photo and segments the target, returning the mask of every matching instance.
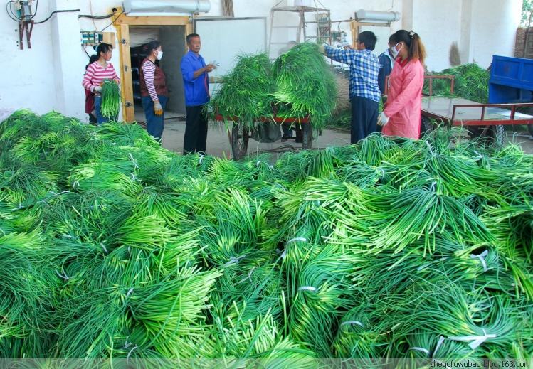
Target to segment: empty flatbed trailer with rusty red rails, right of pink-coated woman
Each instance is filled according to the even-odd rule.
[[[533,108],[532,102],[481,104],[460,97],[433,96],[433,80],[449,79],[450,94],[453,94],[453,75],[426,75],[429,93],[422,97],[421,132],[433,129],[431,119],[452,126],[465,126],[471,137],[488,137],[497,145],[504,140],[504,125],[533,124],[533,116],[517,112],[519,107]]]

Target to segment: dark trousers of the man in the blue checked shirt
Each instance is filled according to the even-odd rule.
[[[376,132],[378,122],[378,102],[366,97],[354,96],[352,102],[352,144],[357,144],[371,133]]]

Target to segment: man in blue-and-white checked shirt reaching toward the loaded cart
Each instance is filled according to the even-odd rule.
[[[379,100],[378,86],[379,60],[372,53],[376,47],[376,35],[371,31],[359,33],[356,49],[345,50],[320,46],[320,51],[328,58],[350,67],[349,97],[352,103],[351,142],[357,144],[369,134],[376,132]]]

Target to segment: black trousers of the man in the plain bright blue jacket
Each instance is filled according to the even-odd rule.
[[[204,113],[204,105],[185,107],[187,117],[185,119],[185,137],[183,140],[183,153],[201,152],[206,153],[207,141],[207,116]]]

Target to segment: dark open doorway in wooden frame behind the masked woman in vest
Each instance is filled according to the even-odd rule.
[[[144,109],[141,103],[139,68],[145,58],[143,47],[152,40],[158,40],[163,49],[163,58],[156,63],[167,77],[169,102],[165,109],[165,119],[185,117],[183,80],[179,63],[186,52],[186,26],[130,26],[130,65],[132,70],[132,90],[134,120],[144,122]]]

